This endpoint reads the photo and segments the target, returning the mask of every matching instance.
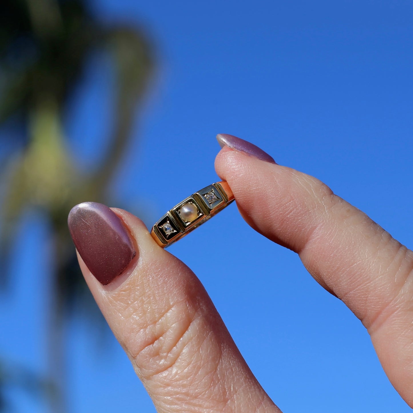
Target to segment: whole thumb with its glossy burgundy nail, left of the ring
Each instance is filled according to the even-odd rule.
[[[84,202],[69,229],[86,282],[159,412],[279,412],[192,271],[138,218]]]

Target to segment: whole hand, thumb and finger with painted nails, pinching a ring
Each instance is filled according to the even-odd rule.
[[[218,141],[216,171],[244,219],[297,252],[362,321],[389,380],[413,407],[413,252],[316,178],[239,138]],[[158,412],[280,411],[197,277],[142,221],[85,203],[72,209],[69,228],[85,280]]]

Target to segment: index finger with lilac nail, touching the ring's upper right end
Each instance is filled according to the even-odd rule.
[[[413,407],[413,252],[316,178],[218,135],[216,171],[255,230],[297,252],[370,333],[390,381]]]

